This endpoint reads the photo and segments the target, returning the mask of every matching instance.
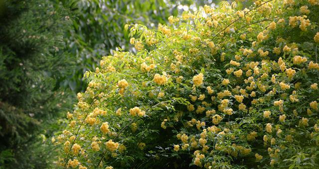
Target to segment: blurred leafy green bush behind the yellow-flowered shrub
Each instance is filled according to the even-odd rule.
[[[196,1],[197,2],[197,1]],[[112,51],[134,51],[124,25],[145,24],[155,27],[167,22],[168,16],[182,9],[178,4],[191,5],[193,0],[79,0],[72,29],[66,34],[65,50],[77,58],[77,67],[65,85],[73,91],[84,91],[83,74],[97,68],[102,56]]]

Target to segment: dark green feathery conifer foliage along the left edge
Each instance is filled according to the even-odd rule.
[[[66,5],[65,5],[66,6]],[[53,0],[0,0],[0,168],[44,168],[52,119],[72,103],[60,84],[69,8]],[[39,134],[42,133],[39,137]]]

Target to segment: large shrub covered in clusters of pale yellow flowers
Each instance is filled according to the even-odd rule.
[[[157,31],[127,25],[138,53],[85,74],[58,163],[318,167],[319,1],[238,4],[170,16]]]

